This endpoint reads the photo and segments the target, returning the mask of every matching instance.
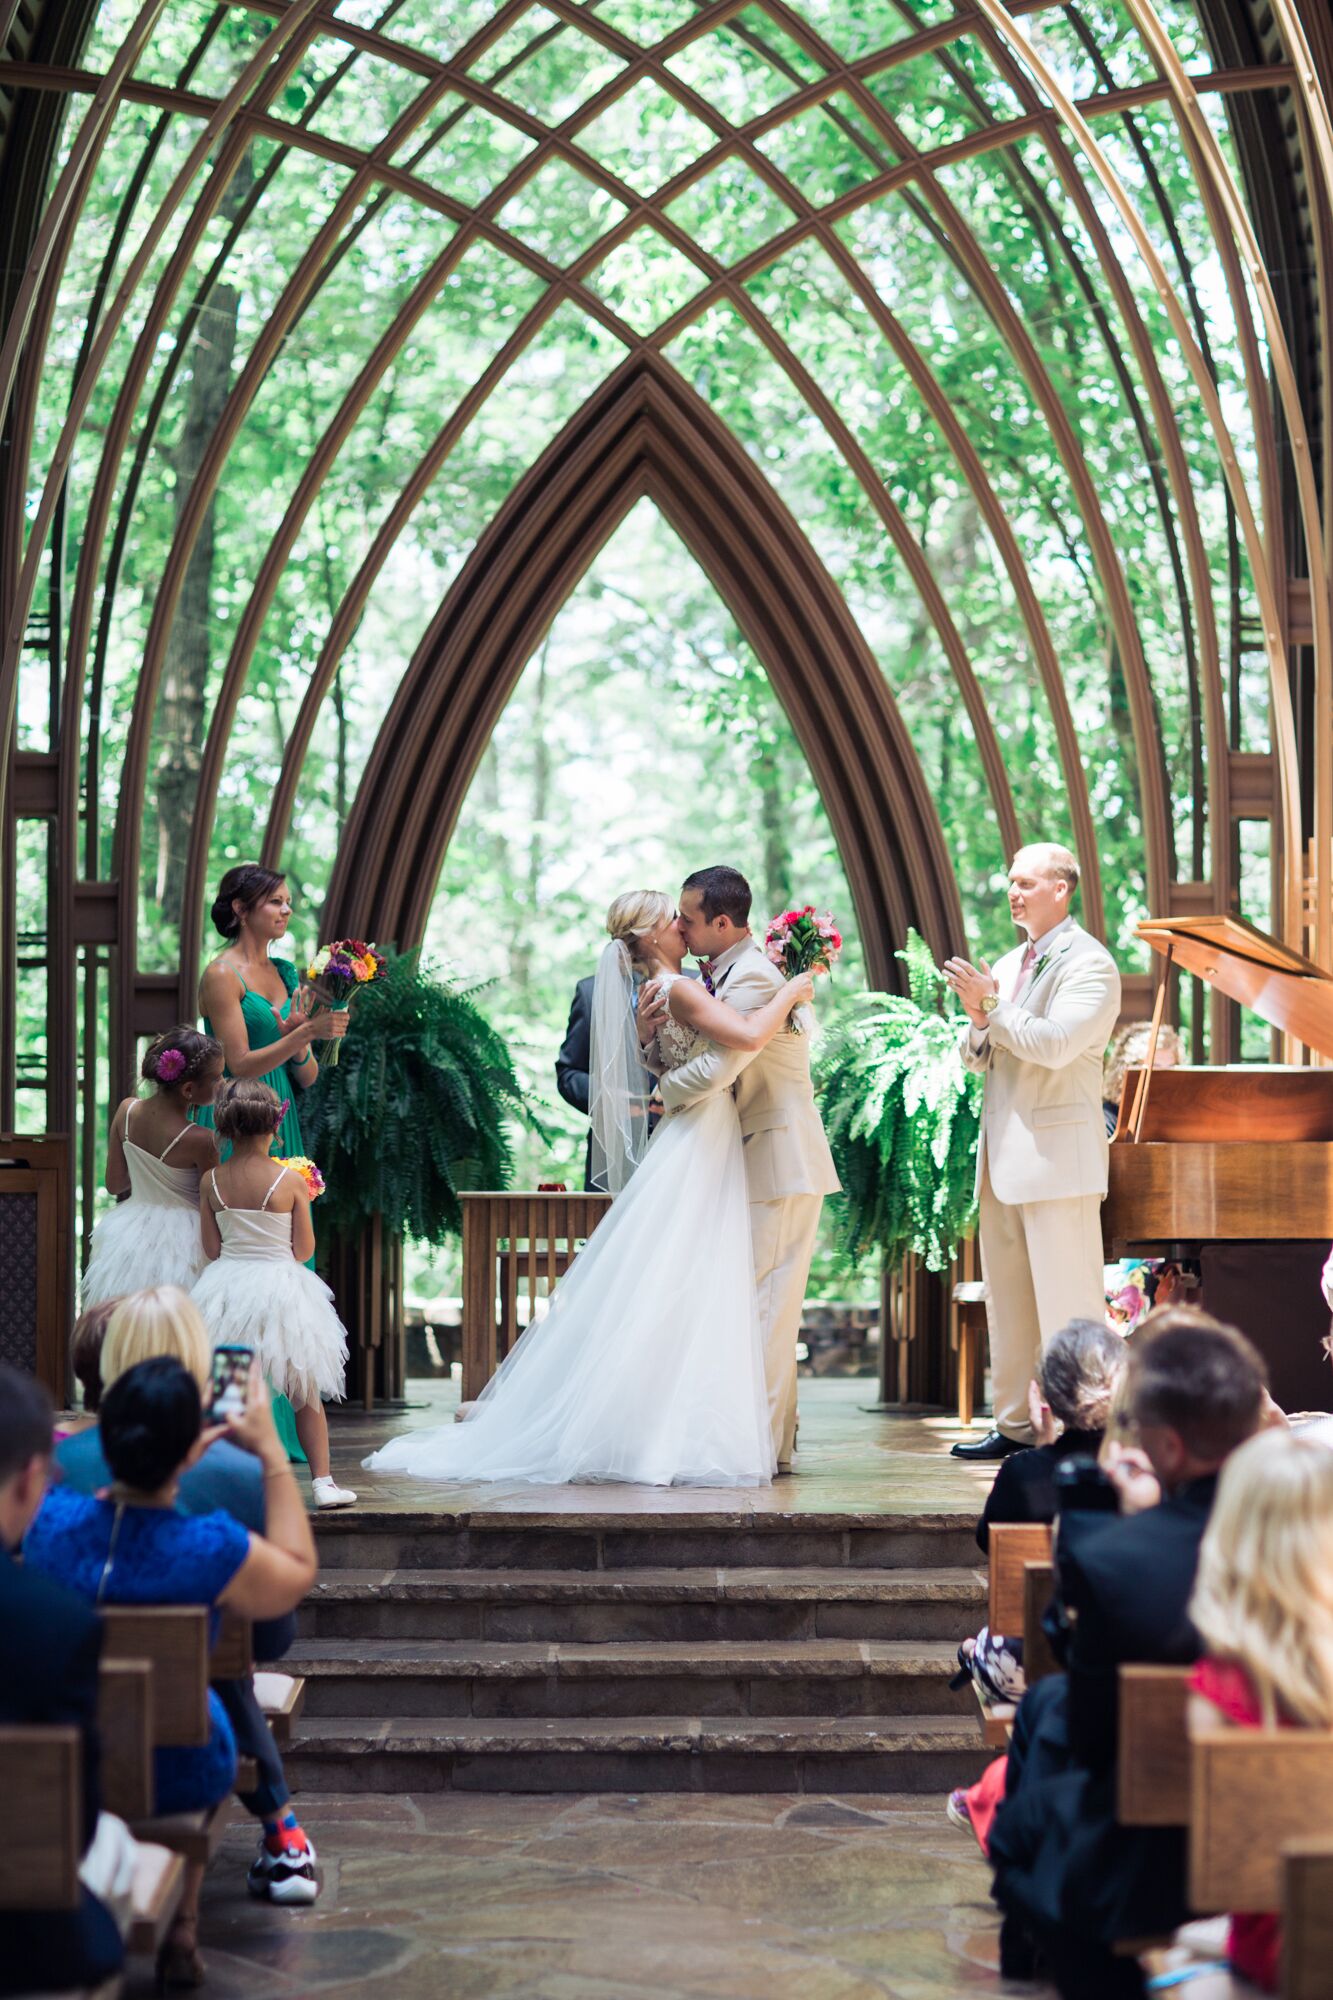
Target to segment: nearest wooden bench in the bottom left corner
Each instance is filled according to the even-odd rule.
[[[24,1724],[0,1728],[0,1794],[24,1828],[22,1840],[0,1844],[0,1910],[76,1910],[82,1814],[78,1730]],[[182,1892],[180,1854],[156,1844],[140,1846],[124,1940],[130,1956],[156,1956]],[[110,2000],[120,1984],[108,1980],[90,2000]]]

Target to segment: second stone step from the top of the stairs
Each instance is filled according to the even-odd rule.
[[[370,1570],[320,1576],[304,1638],[957,1640],[985,1620],[965,1568]]]

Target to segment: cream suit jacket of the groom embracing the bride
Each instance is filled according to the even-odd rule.
[[[745,946],[733,946],[727,960],[719,962],[717,998],[739,1014],[753,1014],[785,984],[753,938]],[[705,1048],[693,1062],[662,1076],[662,1104],[669,1112],[679,1112],[729,1084],[735,1086],[741,1116],[751,1200],[837,1194],[841,1182],[811,1084],[809,1034],[781,1030],[757,1056],[739,1048]]]

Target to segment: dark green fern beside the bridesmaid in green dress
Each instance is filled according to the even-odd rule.
[[[300,1106],[328,1186],[316,1220],[354,1238],[378,1214],[390,1234],[438,1248],[462,1228],[462,1192],[508,1186],[506,1120],[540,1124],[472,1000],[418,952],[386,956],[386,978],[356,998],[342,1060]]]

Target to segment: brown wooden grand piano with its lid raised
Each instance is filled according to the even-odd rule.
[[[1155,952],[1333,1056],[1333,974],[1239,916],[1139,924]],[[1165,984],[1155,1022],[1161,1022]],[[1241,1064],[1125,1078],[1107,1256],[1197,1258],[1203,1304],[1259,1346],[1285,1408],[1333,1408],[1319,1270],[1333,1240],[1333,1070]]]

